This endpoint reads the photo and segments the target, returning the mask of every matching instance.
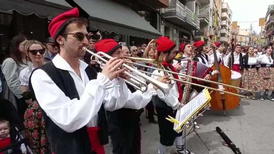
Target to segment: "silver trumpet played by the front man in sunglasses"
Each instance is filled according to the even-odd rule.
[[[110,55],[108,55],[104,52],[101,52],[101,51],[97,52],[97,53],[93,53],[92,51],[88,50],[87,47],[83,47],[82,49],[83,49],[83,51],[86,51],[86,52],[92,54],[91,59],[94,59],[92,61],[97,62],[100,65],[100,68],[103,68],[105,66],[105,63],[108,62],[108,60],[106,60],[106,59],[111,59],[112,58]],[[123,63],[121,66],[127,68],[132,73],[134,73],[137,76],[143,78],[147,82],[153,84],[158,89],[163,91],[163,93],[165,95],[168,95],[170,89],[173,86],[173,84],[166,84],[166,83],[160,82],[158,80],[155,80],[154,78],[145,75],[144,73],[130,67],[129,65],[126,65],[125,63]],[[138,77],[135,77],[131,73],[126,72],[126,71],[124,71],[123,73],[128,75],[130,78],[119,77],[120,79],[122,79],[126,83],[130,84],[131,86],[133,86],[134,88],[136,88],[136,89],[138,89],[142,92],[146,92],[148,90],[148,85],[145,82],[143,82],[142,80],[140,80]]]

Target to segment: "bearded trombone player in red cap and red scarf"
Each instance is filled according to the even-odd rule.
[[[175,47],[176,44],[172,40],[169,40],[168,37],[159,37],[156,40],[157,43],[157,50],[158,50],[158,57],[163,55],[163,68],[169,71],[177,72],[176,68],[172,65],[172,62],[176,56]],[[165,76],[163,71],[158,72],[155,70],[153,74]],[[151,77],[157,79],[158,76],[152,75]],[[174,78],[178,79],[178,75],[171,75]],[[168,146],[172,146],[174,141],[176,143],[177,152],[179,154],[184,153],[184,147],[182,144],[182,133],[177,133],[173,130],[173,123],[169,122],[166,117],[172,116],[175,118],[176,112],[178,107],[183,104],[180,102],[182,101],[182,85],[180,82],[174,82],[173,80],[171,83],[174,83],[172,86],[169,95],[166,99],[164,98],[164,94],[162,91],[156,90],[157,96],[155,96],[155,108],[157,111],[158,117],[158,126],[159,126],[159,133],[160,133],[160,145],[158,149],[158,154],[165,153]],[[190,154],[191,152],[187,150]]]

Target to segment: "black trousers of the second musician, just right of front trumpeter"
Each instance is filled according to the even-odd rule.
[[[140,127],[139,120],[121,124],[109,124],[113,154],[139,154],[140,153]]]

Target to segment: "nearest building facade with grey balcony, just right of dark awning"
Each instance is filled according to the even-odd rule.
[[[187,3],[191,0],[169,0],[168,7],[162,8],[164,22],[160,27],[163,36],[169,37],[176,43],[178,50],[179,45],[183,42],[193,42],[192,30],[200,29],[200,20],[195,14],[193,7]]]

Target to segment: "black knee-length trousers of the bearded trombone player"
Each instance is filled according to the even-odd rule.
[[[182,136],[182,132],[177,133],[175,130],[173,130],[174,123],[168,121],[166,118],[168,117],[168,115],[175,118],[177,110],[172,110],[172,108],[170,107],[156,107],[156,111],[158,117],[160,143],[165,146],[172,146],[175,138],[178,136]]]

